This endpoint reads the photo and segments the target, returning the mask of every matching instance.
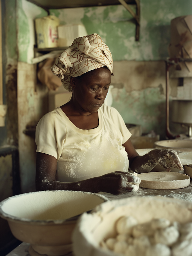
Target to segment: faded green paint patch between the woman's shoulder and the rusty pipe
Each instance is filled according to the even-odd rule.
[[[113,98],[118,97],[113,90]],[[127,93],[122,89],[118,100],[113,100],[113,107],[121,113],[125,123],[142,125],[143,132],[154,130],[164,133],[165,96],[161,88],[146,88]],[[163,136],[163,135],[162,135]]]

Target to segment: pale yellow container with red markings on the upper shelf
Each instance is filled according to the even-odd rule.
[[[59,19],[53,15],[35,19],[38,48],[54,48],[58,46],[58,25]]]

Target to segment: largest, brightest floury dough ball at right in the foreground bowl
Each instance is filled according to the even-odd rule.
[[[164,245],[172,245],[179,238],[179,231],[174,227],[170,226],[166,229],[160,229],[155,232],[155,242],[164,244]]]

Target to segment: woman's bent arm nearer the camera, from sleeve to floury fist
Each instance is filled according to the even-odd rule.
[[[129,191],[137,191],[140,183],[140,178],[137,176],[122,172],[108,173],[78,182],[60,182],[56,181],[56,170],[57,160],[55,157],[37,152],[36,191],[77,190],[93,193],[102,191],[119,195]]]

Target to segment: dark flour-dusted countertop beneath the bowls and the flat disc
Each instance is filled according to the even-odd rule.
[[[133,197],[133,196],[164,196],[164,197],[172,197],[177,199],[182,199],[185,201],[192,202],[192,182],[190,185],[184,189],[170,189],[170,190],[154,190],[154,189],[143,189],[139,188],[137,192],[128,192],[123,195],[112,195],[108,193],[100,193],[106,196],[109,200],[119,199],[119,198],[126,198],[126,197]],[[29,244],[21,243],[17,246],[13,251],[11,251],[7,256],[29,256]],[[67,256],[73,256],[72,253],[67,254]]]

